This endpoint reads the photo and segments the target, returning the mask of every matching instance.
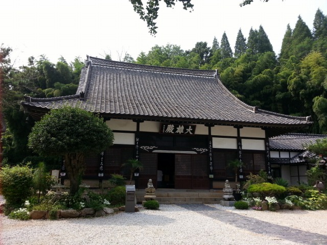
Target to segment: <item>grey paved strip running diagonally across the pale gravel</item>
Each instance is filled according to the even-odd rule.
[[[305,244],[327,244],[327,236],[325,235],[270,224],[259,219],[245,217],[204,204],[178,204],[178,206],[254,233],[271,235]]]

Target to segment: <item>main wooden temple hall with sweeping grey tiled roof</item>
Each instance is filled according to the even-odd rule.
[[[229,92],[214,70],[147,66],[87,57],[75,95],[26,97],[25,110],[39,119],[62,105],[99,113],[114,133],[114,145],[88,156],[84,178],[128,176],[122,164],[141,161],[137,188],[222,188],[235,179],[230,160],[242,161],[242,180],[264,169],[272,174],[269,138],[308,128],[310,117],[249,106]],[[275,154],[275,153],[274,153]],[[162,174],[161,174],[162,173]],[[159,177],[160,179],[160,177]]]

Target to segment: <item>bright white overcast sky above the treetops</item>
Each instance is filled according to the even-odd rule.
[[[318,8],[327,15],[326,0],[254,0],[242,8],[241,0],[192,0],[192,13],[181,3],[172,9],[161,2],[153,37],[128,0],[2,0],[0,44],[13,48],[16,65],[42,54],[54,63],[61,55],[67,62],[105,53],[118,60],[125,52],[136,59],[156,44],[183,50],[199,41],[211,46],[224,31],[233,49],[240,28],[247,38],[251,27],[258,30],[261,24],[278,54],[287,24],[294,29],[298,15],[311,30]]]

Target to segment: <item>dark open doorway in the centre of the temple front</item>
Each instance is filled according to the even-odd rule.
[[[175,188],[175,154],[158,153],[158,180],[160,180],[160,171],[162,181],[161,184],[158,183],[158,188]]]

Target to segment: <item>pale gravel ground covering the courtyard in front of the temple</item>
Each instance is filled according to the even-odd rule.
[[[290,233],[302,231],[311,236],[318,233],[322,240],[303,243],[296,240],[294,234],[289,234],[289,237],[273,236],[251,231],[247,227],[240,228],[235,222],[226,224],[221,221],[231,214],[240,217],[239,220],[246,216],[247,220],[257,224],[258,220],[262,220],[271,227],[291,227]],[[182,205],[160,205],[160,210],[141,209],[140,212],[121,212],[99,218],[28,221],[8,219],[3,215],[0,218],[2,245],[327,244],[327,239],[324,239],[324,236],[327,238],[325,210],[270,212],[235,210],[220,205],[198,205],[197,209],[190,210]]]

